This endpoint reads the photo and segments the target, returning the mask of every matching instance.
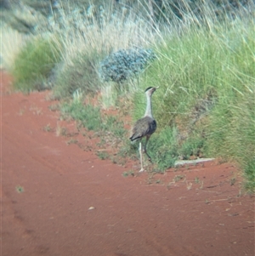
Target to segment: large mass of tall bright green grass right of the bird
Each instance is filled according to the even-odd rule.
[[[171,37],[162,37],[155,45],[159,60],[141,82],[143,89],[160,86],[153,95],[157,139],[169,127],[177,128],[178,155],[196,145],[196,149],[193,146],[189,150],[190,155],[196,151],[198,156],[197,152],[202,151],[203,156],[234,160],[245,170],[246,187],[254,190],[252,16],[244,12],[219,22],[209,13],[206,22],[197,26],[196,21],[189,22],[189,26],[182,24],[183,30],[173,31]],[[135,118],[144,114],[142,94],[140,90],[133,98]],[[172,150],[169,145],[169,154]]]

